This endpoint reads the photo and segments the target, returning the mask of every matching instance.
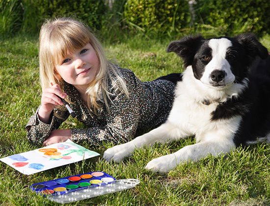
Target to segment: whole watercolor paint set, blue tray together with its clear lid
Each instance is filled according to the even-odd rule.
[[[135,187],[136,179],[115,180],[110,175],[95,171],[56,180],[32,184],[30,189],[55,203],[72,203]]]

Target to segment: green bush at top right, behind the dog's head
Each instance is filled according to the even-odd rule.
[[[193,6],[196,22],[218,28],[224,35],[270,32],[269,0],[196,0]]]

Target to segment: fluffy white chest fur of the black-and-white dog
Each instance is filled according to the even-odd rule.
[[[186,136],[195,135],[196,141],[232,138],[239,127],[241,116],[212,120],[217,102],[205,105],[184,93],[175,99],[168,121],[177,124]]]

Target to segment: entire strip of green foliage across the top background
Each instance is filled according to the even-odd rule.
[[[193,7],[193,9],[192,9]],[[148,38],[270,33],[268,0],[0,0],[1,37],[37,34],[45,18],[73,16],[107,42]]]

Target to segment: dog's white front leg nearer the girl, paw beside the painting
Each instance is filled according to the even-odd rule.
[[[183,136],[183,133],[181,133],[178,127],[166,122],[160,127],[153,129],[144,135],[136,137],[130,142],[109,148],[105,151],[103,158],[107,161],[114,160],[116,162],[120,162],[124,157],[131,156],[135,148],[141,148],[144,145],[153,145],[155,142],[164,144]]]

